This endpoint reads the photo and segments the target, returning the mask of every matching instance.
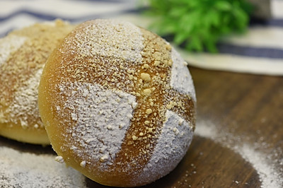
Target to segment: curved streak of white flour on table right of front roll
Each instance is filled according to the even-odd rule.
[[[259,146],[256,145],[260,143],[255,144],[255,146],[250,146],[247,143],[241,144],[241,138],[237,138],[223,130],[218,131],[212,122],[198,122],[195,135],[212,139],[220,143],[221,146],[231,148],[234,152],[240,154],[258,172],[262,188],[280,188],[283,186],[283,170],[280,170],[280,166],[283,166],[283,159],[281,162],[272,160],[279,153],[282,153],[281,150],[272,151],[271,153],[257,151],[256,148]],[[238,143],[238,145],[235,143]]]

